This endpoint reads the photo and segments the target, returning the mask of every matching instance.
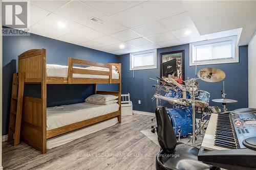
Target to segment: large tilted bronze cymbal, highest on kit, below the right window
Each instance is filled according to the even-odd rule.
[[[197,72],[197,76],[205,82],[219,82],[225,79],[226,74],[218,68],[202,68]]]

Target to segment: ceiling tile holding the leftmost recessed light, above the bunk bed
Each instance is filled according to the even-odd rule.
[[[83,25],[80,25],[79,23],[73,22],[53,13],[40,20],[38,23],[40,25],[48,26],[67,33],[83,27]],[[59,23],[63,23],[65,28],[58,27]]]

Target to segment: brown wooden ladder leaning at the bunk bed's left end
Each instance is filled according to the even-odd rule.
[[[19,144],[20,127],[22,122],[24,81],[24,73],[19,74],[19,76],[17,73],[13,74],[8,141],[11,141],[14,136],[14,146]]]

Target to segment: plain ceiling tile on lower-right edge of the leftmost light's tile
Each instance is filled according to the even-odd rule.
[[[98,31],[95,31],[93,29],[90,29],[88,27],[83,27],[78,30],[75,30],[71,34],[82,37],[82,38],[90,39],[90,40],[104,36],[104,34]]]

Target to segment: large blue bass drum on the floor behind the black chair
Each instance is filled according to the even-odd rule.
[[[167,114],[173,124],[174,133],[176,136],[186,136],[193,132],[192,128],[192,109],[191,107],[177,107],[167,109]]]

